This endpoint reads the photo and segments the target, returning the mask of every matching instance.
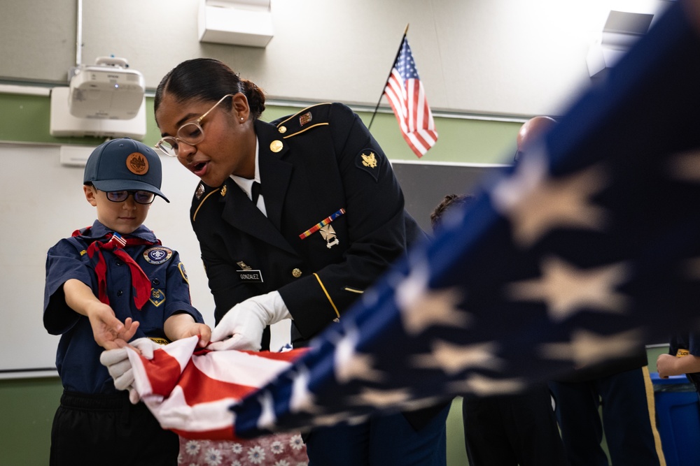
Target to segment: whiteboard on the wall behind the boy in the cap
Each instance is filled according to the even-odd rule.
[[[192,302],[214,326],[214,299],[189,220],[199,179],[176,159],[161,158],[162,191],[146,226],[186,265]],[[83,168],[62,166],[59,146],[0,144],[0,378],[56,375],[59,337],[43,327],[46,252],[77,228],[92,225],[94,207],[83,194]]]

